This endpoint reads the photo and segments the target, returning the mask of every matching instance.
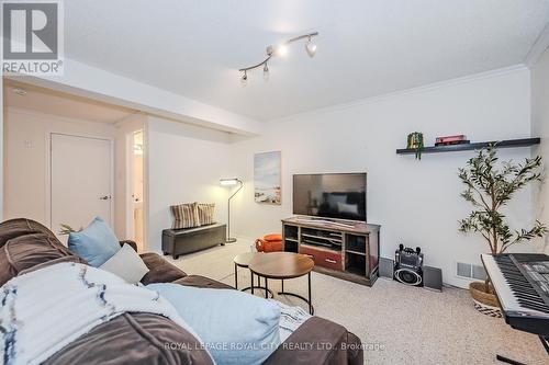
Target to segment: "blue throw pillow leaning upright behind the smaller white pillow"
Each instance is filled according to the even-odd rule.
[[[103,219],[97,217],[83,230],[69,233],[68,248],[93,267],[99,267],[120,250],[120,242]]]

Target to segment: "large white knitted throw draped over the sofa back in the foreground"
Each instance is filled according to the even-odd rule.
[[[124,312],[161,315],[192,329],[158,293],[107,271],[59,263],[13,277],[0,290],[0,358],[40,364],[94,327]]]

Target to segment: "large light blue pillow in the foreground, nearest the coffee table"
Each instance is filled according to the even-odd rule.
[[[280,307],[233,289],[149,284],[177,309],[217,365],[261,364],[280,345]]]

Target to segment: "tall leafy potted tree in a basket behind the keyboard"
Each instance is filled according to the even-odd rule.
[[[505,252],[511,246],[544,237],[547,228],[537,221],[530,228],[512,230],[502,208],[515,193],[533,181],[540,180],[541,157],[525,159],[523,163],[505,161],[498,164],[495,146],[489,146],[459,169],[459,179],[466,185],[461,196],[474,207],[469,217],[459,221],[461,232],[478,232],[492,254]],[[477,309],[501,317],[498,303],[490,278],[474,282],[469,292]]]

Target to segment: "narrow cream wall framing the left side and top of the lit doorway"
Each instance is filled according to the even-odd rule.
[[[120,239],[132,239],[132,232],[127,227],[127,199],[132,195],[132,189],[128,185],[133,183],[132,176],[128,176],[128,156],[130,150],[133,151],[133,140],[128,139],[128,135],[134,132],[143,130],[147,116],[145,114],[134,114],[115,124],[115,142],[114,142],[114,227],[116,237]],[[133,155],[132,155],[133,158]]]

